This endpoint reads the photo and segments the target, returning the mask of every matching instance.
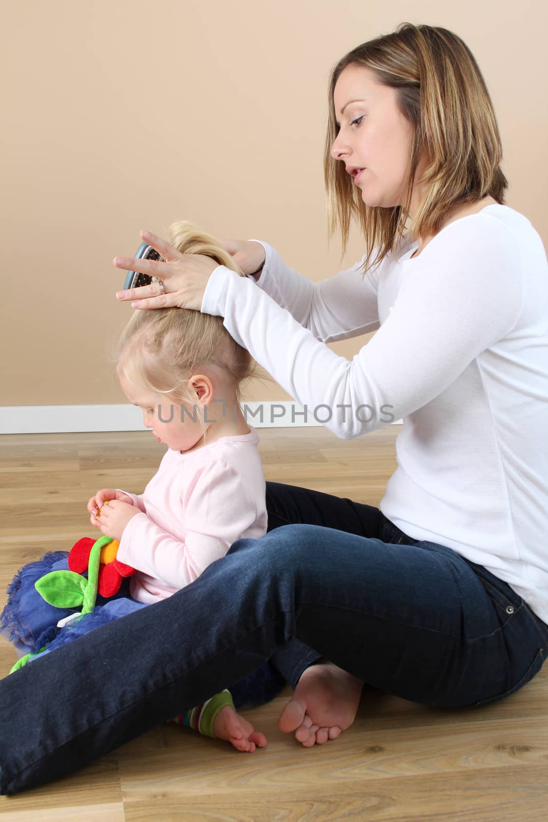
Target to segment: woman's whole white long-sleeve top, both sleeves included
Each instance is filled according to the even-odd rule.
[[[318,417],[336,436],[403,419],[380,510],[485,566],[548,622],[548,262],[530,221],[488,205],[415,258],[405,242],[365,279],[363,256],[316,284],[256,242],[257,283],[218,266],[201,311],[299,404],[328,405]],[[373,330],[352,361],[325,345]]]

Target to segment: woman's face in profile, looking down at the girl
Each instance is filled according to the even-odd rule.
[[[334,106],[340,130],[331,155],[345,166],[365,169],[354,183],[361,199],[382,208],[403,205],[412,125],[398,109],[396,89],[377,82],[370,69],[350,65],[338,76]],[[416,179],[422,169],[421,159]],[[411,213],[418,197],[415,187]]]

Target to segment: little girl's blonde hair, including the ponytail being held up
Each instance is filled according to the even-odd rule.
[[[187,220],[169,227],[168,241],[182,254],[210,256],[219,266],[245,276],[214,237]],[[122,330],[114,360],[119,377],[191,406],[202,425],[203,413],[200,404],[196,404],[196,391],[189,385],[189,378],[200,372],[210,376],[208,370],[221,372],[223,388],[233,390],[240,402],[243,381],[257,376],[258,367],[251,354],[223,326],[222,316],[176,307],[136,309]],[[213,410],[214,418],[218,418],[220,409]],[[195,413],[192,412],[193,418]]]

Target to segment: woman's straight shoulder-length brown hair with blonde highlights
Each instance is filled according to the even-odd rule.
[[[396,89],[398,109],[412,124],[405,205],[366,205],[343,164],[331,155],[339,131],[334,88],[349,65],[370,69],[376,81]],[[356,216],[366,239],[364,273],[375,247],[371,265],[394,252],[403,238],[423,150],[429,164],[422,178],[425,193],[412,215],[412,240],[437,233],[446,212],[458,203],[488,195],[504,203],[508,180],[500,169],[502,145],[493,104],[472,52],[452,31],[402,23],[393,33],[352,48],[331,72],[328,105],[324,178],[329,238],[339,227],[344,254],[349,225]]]

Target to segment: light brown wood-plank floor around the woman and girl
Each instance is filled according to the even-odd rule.
[[[322,427],[258,429],[265,477],[378,506],[395,467],[389,426],[353,441]],[[0,608],[14,571],[94,536],[99,487],[140,492],[163,446],[150,432],[0,437]],[[93,532],[93,533],[92,533]],[[0,639],[0,676],[15,661]],[[481,709],[430,709],[371,687],[357,720],[311,749],[281,734],[290,693],[246,712],[269,738],[252,755],[164,725],[71,777],[0,797],[16,822],[548,820],[548,667]],[[0,761],[2,751],[0,751]]]

